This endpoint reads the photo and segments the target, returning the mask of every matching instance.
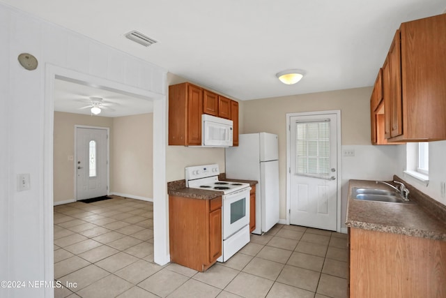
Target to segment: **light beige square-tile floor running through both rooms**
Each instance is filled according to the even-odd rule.
[[[275,225],[206,272],[153,262],[153,204],[54,207],[54,297],[347,297],[346,234]]]

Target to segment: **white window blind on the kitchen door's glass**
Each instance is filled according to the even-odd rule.
[[[330,174],[330,119],[295,125],[296,174],[326,179]]]

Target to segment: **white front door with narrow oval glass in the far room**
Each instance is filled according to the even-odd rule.
[[[76,128],[77,200],[107,195],[107,129]]]

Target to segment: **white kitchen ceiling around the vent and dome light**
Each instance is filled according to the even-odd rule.
[[[401,22],[445,0],[0,0],[238,100],[371,86]],[[124,37],[136,29],[158,43]],[[305,70],[295,85],[275,74]]]

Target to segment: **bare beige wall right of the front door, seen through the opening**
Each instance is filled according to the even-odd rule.
[[[153,199],[153,114],[113,119],[112,193]]]

